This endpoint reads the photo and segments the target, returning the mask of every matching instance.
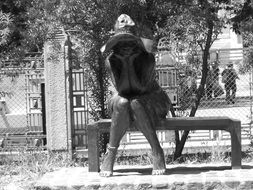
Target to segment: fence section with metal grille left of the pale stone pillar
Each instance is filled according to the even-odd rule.
[[[29,132],[43,131],[41,85],[44,79],[40,72],[14,68],[1,71],[1,130],[10,133],[17,128],[20,131],[21,128]],[[15,73],[15,76],[7,73]]]

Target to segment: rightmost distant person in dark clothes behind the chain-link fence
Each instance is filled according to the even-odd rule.
[[[233,64],[228,64],[227,68],[221,73],[222,82],[225,83],[227,104],[235,103],[236,79],[239,79]]]

